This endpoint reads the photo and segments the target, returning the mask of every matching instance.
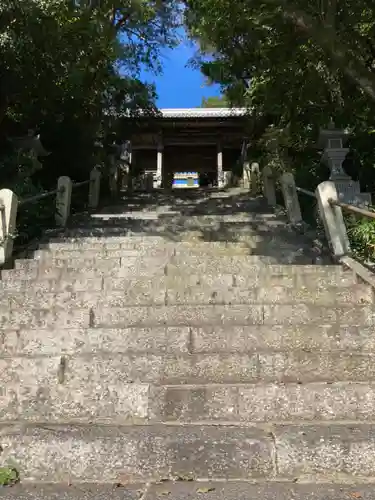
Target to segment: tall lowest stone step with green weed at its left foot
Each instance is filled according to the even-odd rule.
[[[344,478],[360,483],[372,482],[375,476],[373,424],[268,429],[7,424],[1,436],[3,462],[16,463],[25,481],[98,482],[100,478],[103,483],[126,484],[178,476],[182,481],[263,480],[274,487],[276,481],[324,483]],[[351,486],[357,491],[356,485]]]

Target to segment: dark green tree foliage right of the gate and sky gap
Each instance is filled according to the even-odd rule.
[[[375,191],[375,4],[185,3],[187,28],[200,45],[192,64],[219,84],[231,103],[251,110],[249,139],[261,166],[292,171],[298,186],[315,189],[329,174],[316,148],[319,128],[333,119],[351,132],[347,173],[362,190]],[[304,217],[314,221],[314,207],[306,196],[300,200]],[[372,223],[356,224],[351,239],[367,255]]]

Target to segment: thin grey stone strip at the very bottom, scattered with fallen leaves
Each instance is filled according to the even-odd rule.
[[[21,483],[4,488],[3,500],[375,500],[372,484],[296,484],[293,481],[166,481],[160,484]]]

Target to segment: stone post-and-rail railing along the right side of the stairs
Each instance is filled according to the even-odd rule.
[[[290,224],[294,227],[303,225],[298,194],[301,193],[315,199],[319,218],[324,227],[325,239],[328,242],[333,257],[337,261],[348,265],[348,267],[353,267],[354,265],[358,267],[360,265],[359,263],[353,264],[351,262],[353,259],[350,257],[351,249],[343,211],[368,217],[369,219],[375,219],[375,212],[341,202],[335,183],[332,181],[324,181],[317,186],[315,191],[309,191],[296,186],[292,173],[285,172],[277,176],[270,167],[263,169],[262,180],[263,194],[267,203],[271,206],[276,206],[276,183],[280,183],[287,217]],[[349,262],[351,262],[350,265],[348,264]],[[358,269],[356,269],[356,272],[358,273]],[[369,281],[368,276],[364,279]]]

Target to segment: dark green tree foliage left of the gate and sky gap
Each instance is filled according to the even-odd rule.
[[[0,188],[27,198],[55,189],[60,175],[87,179],[105,157],[95,143],[118,130],[114,116],[155,112],[155,88],[139,75],[160,71],[178,20],[174,0],[2,0]],[[30,128],[51,152],[39,166],[9,142]],[[20,215],[35,232],[53,214],[48,200],[40,205]]]

